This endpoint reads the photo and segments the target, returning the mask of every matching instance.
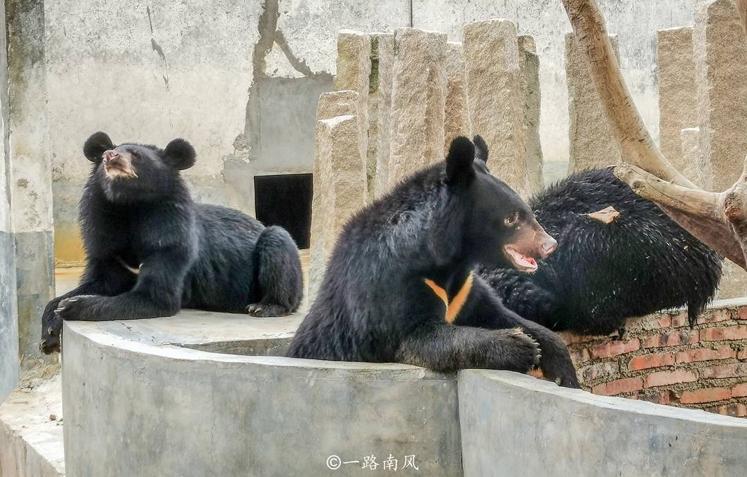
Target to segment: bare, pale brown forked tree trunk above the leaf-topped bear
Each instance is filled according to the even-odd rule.
[[[747,269],[747,159],[745,172],[722,193],[702,191],[651,140],[630,98],[595,0],[562,0],[610,126],[628,164],[615,174],[636,194],[659,204],[684,229]],[[747,34],[747,0],[737,0]]]

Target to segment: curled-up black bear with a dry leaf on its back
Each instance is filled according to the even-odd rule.
[[[553,330],[607,334],[630,316],[686,305],[694,324],[716,293],[721,256],[611,168],[574,173],[530,206],[557,239],[557,253],[534,274],[481,270],[506,307],[524,318]],[[589,215],[608,206],[619,213],[611,222]]]

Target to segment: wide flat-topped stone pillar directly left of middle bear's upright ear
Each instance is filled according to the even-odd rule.
[[[388,185],[444,159],[446,34],[394,30]]]

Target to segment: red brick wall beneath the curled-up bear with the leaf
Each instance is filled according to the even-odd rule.
[[[747,306],[707,310],[693,329],[686,313],[660,313],[622,336],[560,336],[592,393],[747,416]]]

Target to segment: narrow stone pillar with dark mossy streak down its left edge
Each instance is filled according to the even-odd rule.
[[[394,35],[371,34],[371,76],[368,84],[368,197],[388,190],[391,142],[391,81],[394,73]]]

